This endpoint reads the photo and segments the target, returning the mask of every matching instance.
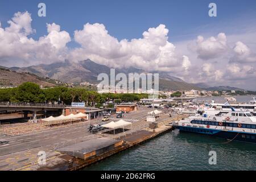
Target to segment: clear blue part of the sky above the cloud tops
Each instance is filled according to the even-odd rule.
[[[38,17],[38,3],[47,6],[47,17]],[[208,16],[210,2],[217,4],[217,17]],[[7,26],[7,20],[18,11],[32,14],[32,27],[36,29],[34,38],[46,34],[46,23],[55,22],[61,28],[73,34],[85,23],[103,23],[110,35],[120,39],[141,38],[142,32],[148,27],[165,24],[170,30],[169,38],[173,41],[195,38],[199,33],[218,30],[222,23],[243,24],[240,17],[254,19],[256,17],[256,1],[0,1],[0,20]],[[237,21],[236,21],[237,19]],[[222,26],[227,31],[229,27]],[[231,28],[233,29],[233,28]],[[239,31],[239,30],[233,30]]]

